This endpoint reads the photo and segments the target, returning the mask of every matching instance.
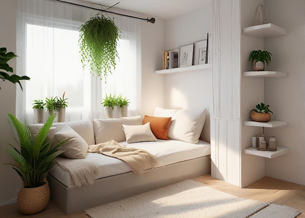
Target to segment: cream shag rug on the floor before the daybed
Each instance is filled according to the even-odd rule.
[[[295,218],[300,214],[293,208],[275,204],[271,212],[265,213],[268,207],[267,202],[238,198],[200,182],[185,180],[93,207],[85,213],[91,218],[248,218],[253,214],[250,218]],[[284,214],[278,210],[290,212]]]

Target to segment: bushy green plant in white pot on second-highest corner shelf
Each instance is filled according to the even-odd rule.
[[[253,50],[249,55],[253,71],[265,71],[265,62],[268,65],[271,61],[271,53],[261,50]]]

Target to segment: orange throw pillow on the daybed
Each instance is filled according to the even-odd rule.
[[[145,115],[142,124],[144,125],[150,122],[152,133],[157,139],[169,140],[167,132],[169,131],[171,121],[172,117],[152,117]]]

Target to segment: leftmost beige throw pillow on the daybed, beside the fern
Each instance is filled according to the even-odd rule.
[[[67,124],[57,123],[54,124],[54,126],[56,126],[56,132],[52,140],[52,145],[57,145],[62,139],[68,139],[68,141],[62,145],[62,149],[65,150],[62,155],[71,159],[85,158],[88,150],[86,141]]]

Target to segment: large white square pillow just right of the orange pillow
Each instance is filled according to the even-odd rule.
[[[208,109],[181,109],[175,111],[167,133],[168,137],[174,140],[197,144],[207,113]]]

